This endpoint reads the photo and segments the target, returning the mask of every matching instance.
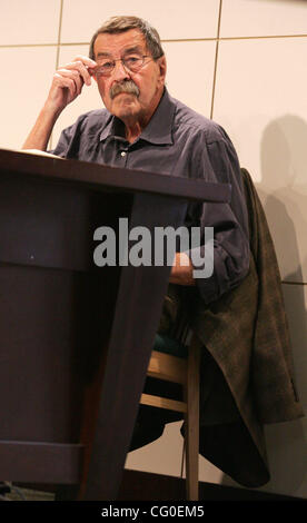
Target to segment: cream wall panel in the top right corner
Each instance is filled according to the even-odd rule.
[[[221,37],[306,33],[305,0],[222,0]]]

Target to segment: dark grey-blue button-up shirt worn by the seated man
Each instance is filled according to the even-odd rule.
[[[50,152],[113,167],[231,184],[230,204],[190,204],[185,225],[215,230],[214,273],[209,278],[196,279],[206,303],[237,286],[247,275],[248,218],[235,148],[219,125],[171,98],[167,89],[133,144],[126,140],[123,122],[107,109],[99,109],[80,116],[65,129]],[[202,245],[202,257],[204,249]]]

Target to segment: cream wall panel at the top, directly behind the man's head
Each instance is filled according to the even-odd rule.
[[[219,0],[65,0],[62,42],[88,42],[109,17],[129,14],[145,18],[162,39],[215,38]]]

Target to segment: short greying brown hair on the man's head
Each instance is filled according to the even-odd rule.
[[[89,57],[95,60],[93,45],[98,34],[117,34],[129,31],[130,29],[139,29],[139,31],[145,36],[147,49],[151,53],[154,60],[164,56],[165,52],[162,50],[159,33],[146,20],[138,17],[111,17],[99,29],[97,29],[96,33],[92,36],[89,47]]]

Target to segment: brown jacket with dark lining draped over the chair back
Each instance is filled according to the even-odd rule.
[[[250,229],[250,268],[238,287],[196,306],[204,343],[200,454],[245,486],[269,481],[264,424],[304,416],[280,273],[254,182],[241,169]],[[182,427],[184,430],[184,427]]]

